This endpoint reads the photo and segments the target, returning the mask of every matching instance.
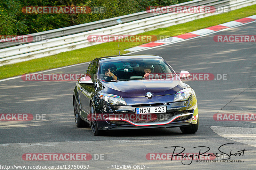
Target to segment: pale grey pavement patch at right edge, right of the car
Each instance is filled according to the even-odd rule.
[[[256,128],[210,126],[213,132],[236,142],[256,147]]]

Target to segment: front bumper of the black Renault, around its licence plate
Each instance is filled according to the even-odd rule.
[[[97,120],[100,130],[107,129],[142,129],[180,127],[196,124],[198,108],[195,93],[186,101],[110,106],[102,100],[94,105],[96,114],[102,118]],[[136,114],[136,107],[166,106],[163,114]]]

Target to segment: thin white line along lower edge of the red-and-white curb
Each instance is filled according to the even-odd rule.
[[[248,17],[247,17],[247,18],[248,18]],[[138,50],[138,51],[132,51],[132,52],[130,52],[130,53],[126,53],[126,55],[127,55],[127,54],[136,53],[136,52],[140,52],[140,51],[145,51],[145,50],[153,49],[153,48],[164,47],[164,46],[167,46],[167,45],[170,45],[170,44],[175,44],[175,43],[178,43],[178,42],[188,41],[188,40],[192,40],[192,39],[199,38],[199,37],[204,37],[204,36],[211,35],[211,34],[214,34],[214,33],[218,33],[218,32],[221,32],[221,31],[226,31],[226,30],[229,30],[229,29],[231,29],[231,28],[236,28],[236,27],[238,27],[238,26],[244,26],[244,25],[247,25],[247,24],[252,24],[252,23],[254,23],[254,22],[256,22],[256,20],[255,20],[255,21],[252,21],[252,22],[247,22],[247,23],[244,23],[244,24],[241,24],[241,25],[237,25],[237,26],[233,26],[233,27],[221,29],[221,30],[219,30],[219,31],[214,31],[214,32],[212,32],[212,33],[207,33],[207,34],[204,34],[204,35],[200,35],[200,36],[197,36],[197,37],[193,37],[193,38],[189,38],[189,39],[185,39],[185,40],[181,40],[181,41],[176,41],[176,42],[172,42],[172,43],[168,43],[168,44],[163,44],[163,45],[156,46],[156,47],[150,47],[150,48],[142,49],[142,50]]]

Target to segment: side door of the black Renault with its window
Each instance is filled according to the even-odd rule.
[[[96,80],[96,74],[97,74],[97,63],[93,62],[90,68],[86,71],[86,76],[89,76],[92,79],[92,82],[95,82]],[[95,88],[93,85],[85,85],[80,84],[80,90],[79,96],[80,96],[80,102],[81,102],[81,116],[87,119],[88,115],[90,114],[90,99],[93,92],[95,92]]]

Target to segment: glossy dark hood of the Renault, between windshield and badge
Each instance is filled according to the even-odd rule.
[[[130,80],[116,82],[101,82],[101,92],[115,94],[121,97],[141,97],[147,92],[154,96],[175,94],[187,88],[180,80]]]

